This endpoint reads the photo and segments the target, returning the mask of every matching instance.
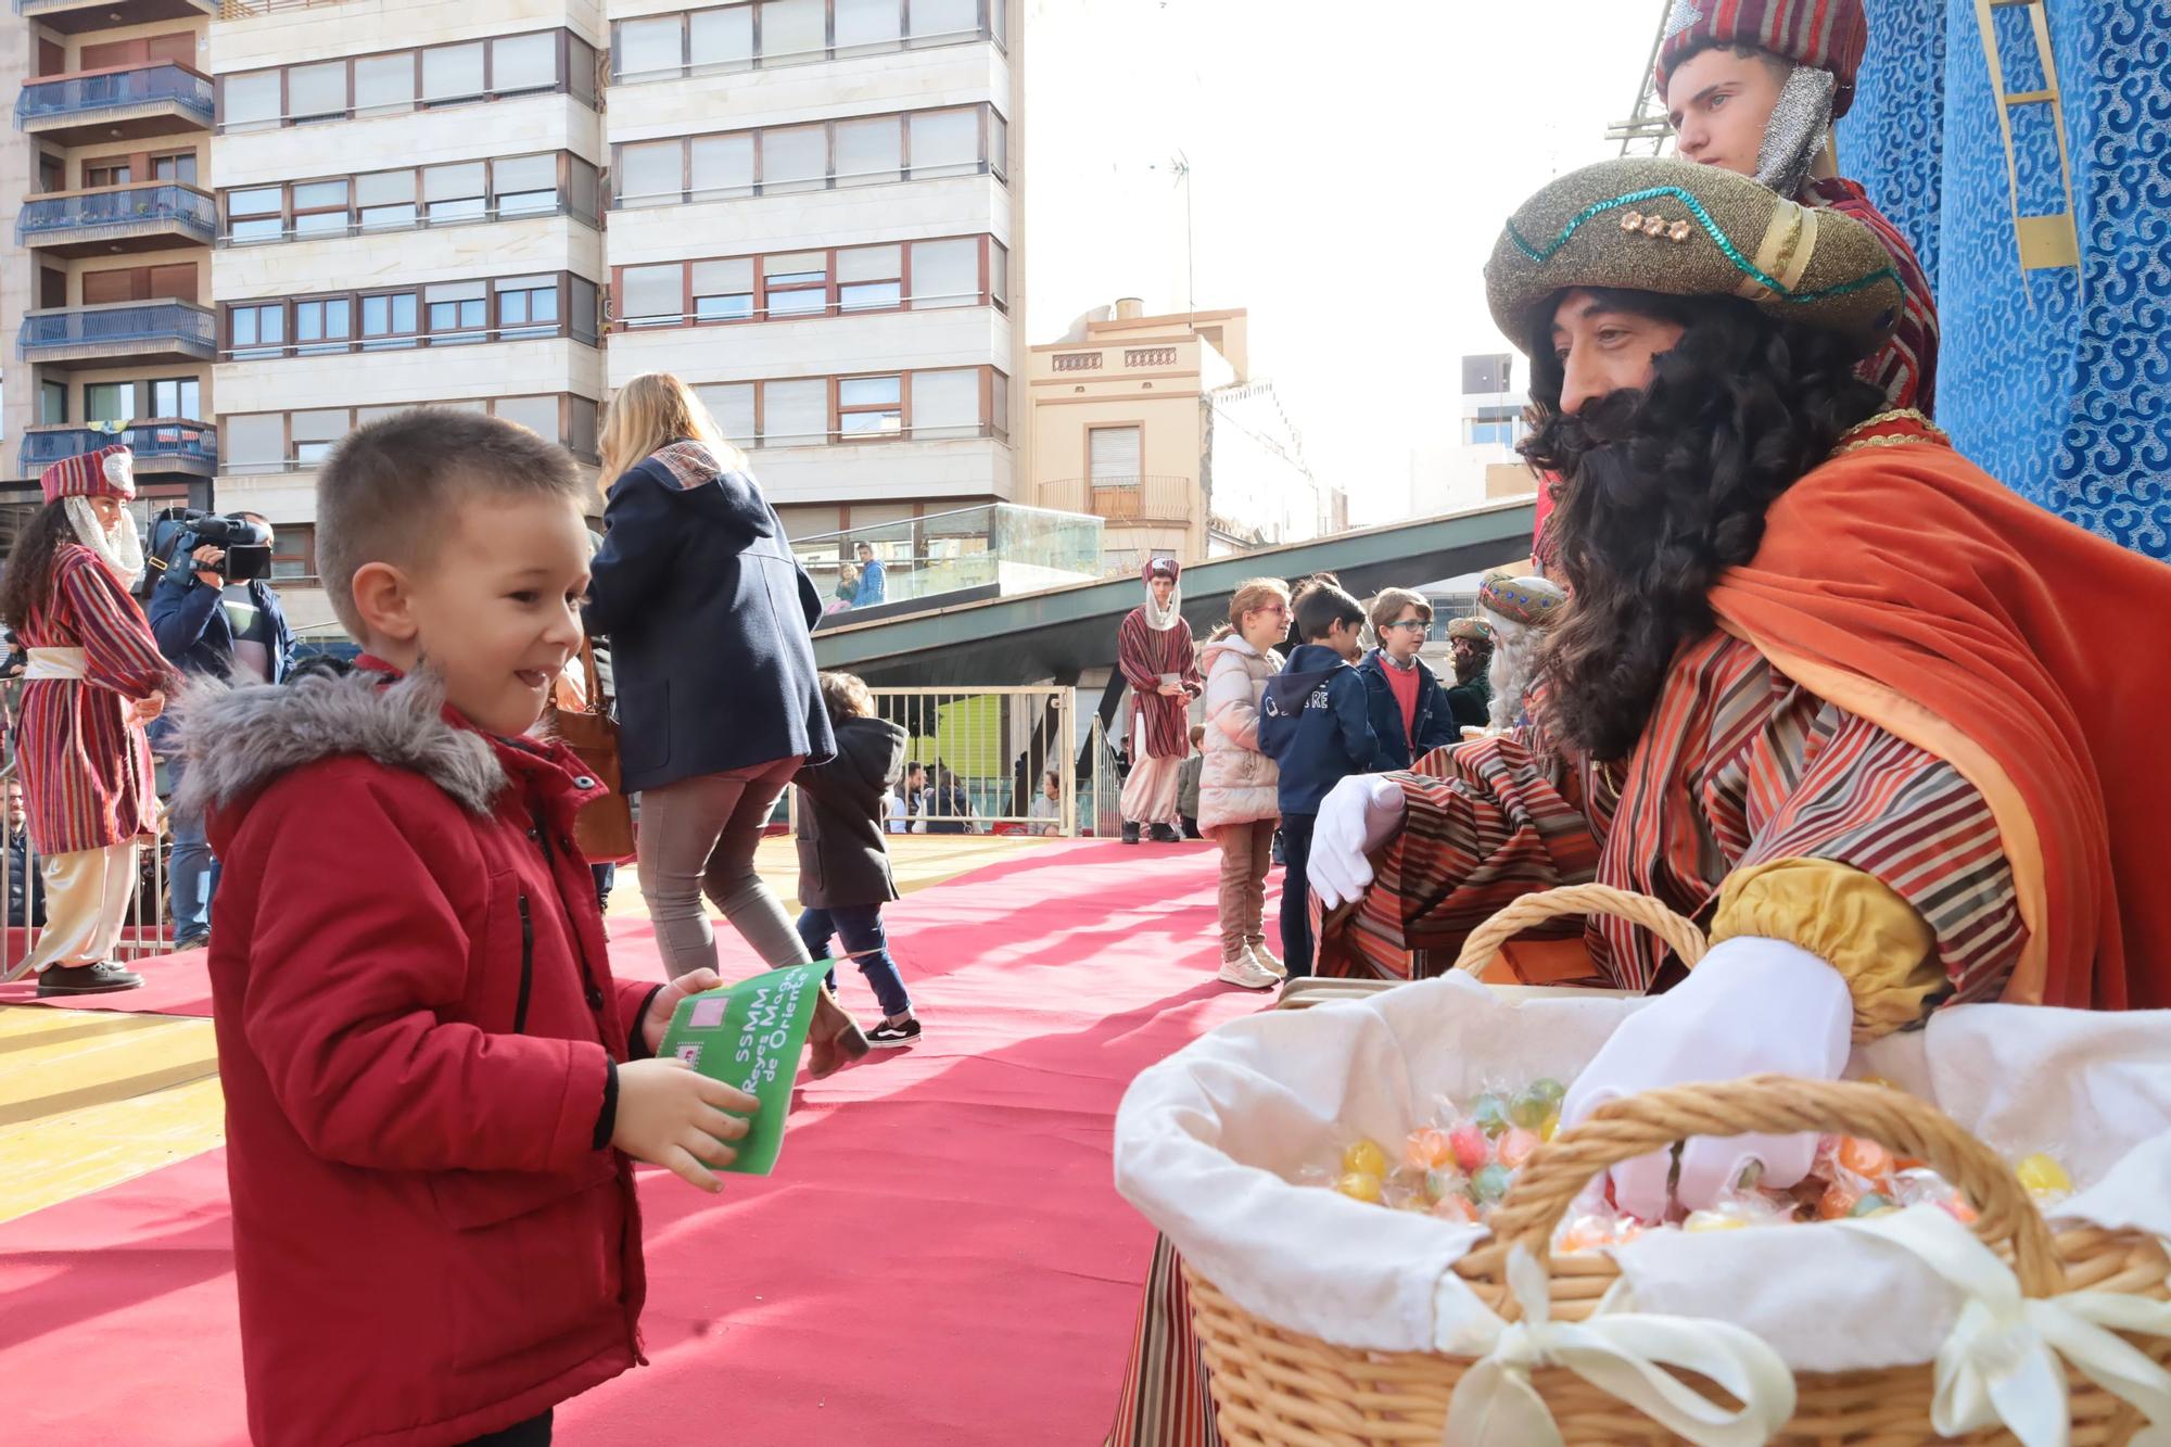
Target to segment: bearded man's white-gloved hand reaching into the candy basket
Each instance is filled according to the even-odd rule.
[[[1320,821],[1326,821],[1322,810]],[[1583,1067],[1561,1106],[1574,1125],[1617,1095],[1693,1080],[1737,1080],[1774,1071],[1839,1080],[1854,1032],[1848,980],[1815,954],[1776,939],[1741,936],[1713,945],[1704,962],[1669,993],[1626,1021]],[[1693,1136],[1680,1149],[1676,1195],[1702,1210],[1763,1162],[1763,1184],[1787,1188],[1808,1175],[1815,1136]],[[1643,1221],[1665,1219],[1667,1154],[1613,1167],[1615,1204]]]

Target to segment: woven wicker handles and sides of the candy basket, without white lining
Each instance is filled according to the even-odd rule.
[[[1483,969],[1513,930],[1570,910],[1624,915],[1654,928],[1687,960],[1704,941],[1685,919],[1639,895],[1574,886],[1528,895],[1472,932],[1459,969]],[[1494,1212],[1494,1238],[1455,1271],[1496,1312],[1513,1319],[1507,1251],[1524,1245],[1552,1278],[1552,1317],[1580,1321],[1620,1278],[1611,1256],[1550,1258],[1552,1232],[1576,1193],[1609,1167],[1685,1136],[1834,1132],[1865,1136],[1934,1165],[1980,1212],[1973,1230],[2019,1275],[2021,1291],[2128,1293],[2167,1299],[2171,1258],[2149,1236],[2097,1228],[2052,1234],[2013,1169],[1934,1106],[1874,1084],[1806,1082],[1778,1075],[1650,1091],[1600,1106],[1524,1165]],[[1222,1438],[1242,1447],[1437,1447],[1448,1399],[1470,1358],[1363,1351],[1285,1332],[1224,1297],[1190,1264],[1192,1323],[1211,1373]],[[2158,1362],[2171,1341],[2134,1338]],[[1561,1438],[1576,1445],[1674,1443],[1665,1427],[1565,1369],[1544,1367],[1533,1384],[1552,1410]],[[2067,1371],[2075,1447],[2125,1443],[2141,1412],[2095,1382]],[[1795,1373],[1795,1414],[1772,1438],[1787,1447],[1902,1447],[1913,1443],[2013,1443],[2002,1430],[1941,1438],[1930,1427],[1932,1369]]]

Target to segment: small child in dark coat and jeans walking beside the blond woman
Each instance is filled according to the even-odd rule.
[[[799,784],[799,939],[816,960],[829,936],[860,962],[860,973],[881,1002],[881,1023],[868,1045],[910,1045],[921,1039],[905,980],[881,932],[881,906],[897,897],[890,852],[881,841],[890,789],[905,776],[907,734],[875,717],[875,700],[851,674],[823,674],[821,702],[836,730],[836,758],[808,765]],[[836,989],[836,976],[829,976]]]

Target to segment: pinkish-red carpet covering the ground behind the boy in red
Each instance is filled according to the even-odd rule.
[[[1051,843],[890,906],[925,1043],[803,1086],[769,1180],[645,1173],[653,1364],[560,1408],[560,1440],[1099,1443],[1151,1247],[1109,1182],[1116,1102],[1264,1004],[1214,982],[1216,863]],[[645,928],[612,949],[660,978]],[[241,1440],[228,1273],[219,1154],[0,1225],[7,1436]]]

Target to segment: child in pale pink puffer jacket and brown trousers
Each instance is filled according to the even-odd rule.
[[[1287,584],[1253,578],[1229,597],[1229,621],[1198,652],[1207,676],[1198,832],[1222,850],[1220,978],[1253,991],[1272,989],[1287,973],[1266,947],[1266,867],[1281,804],[1274,760],[1259,752],[1259,697],[1281,671],[1274,645],[1287,637]]]

